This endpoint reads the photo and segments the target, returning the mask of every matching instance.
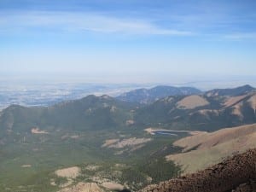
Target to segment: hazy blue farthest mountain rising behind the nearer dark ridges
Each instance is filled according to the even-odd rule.
[[[193,87],[156,86],[152,89],[137,89],[126,92],[116,98],[126,102],[148,104],[166,96],[189,96],[201,94],[201,90]]]

